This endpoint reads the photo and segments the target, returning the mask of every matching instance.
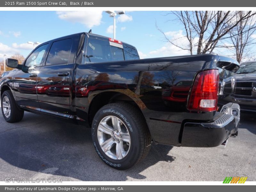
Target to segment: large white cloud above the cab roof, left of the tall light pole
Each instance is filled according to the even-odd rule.
[[[82,23],[87,28],[99,26],[102,19],[102,11],[57,11],[58,17],[72,23]]]

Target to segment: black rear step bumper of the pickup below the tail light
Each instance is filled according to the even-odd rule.
[[[216,112],[214,121],[211,123],[185,123],[181,146],[217,147],[222,145],[230,135],[236,133],[240,121],[239,105],[228,103],[220,111]]]

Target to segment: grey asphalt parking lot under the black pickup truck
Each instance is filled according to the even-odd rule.
[[[226,149],[153,145],[133,168],[118,171],[96,154],[90,129],[25,112],[9,124],[0,114],[0,180],[222,181],[228,176],[256,180],[256,114],[242,113],[237,137]]]

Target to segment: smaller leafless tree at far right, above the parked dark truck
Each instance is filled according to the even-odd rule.
[[[256,18],[254,16],[241,20],[244,14],[244,11],[236,12],[236,20],[240,20],[240,22],[235,28],[233,28],[233,30],[229,31],[230,41],[231,44],[234,45],[234,55],[238,63],[241,63],[245,57],[250,57],[252,54],[250,48],[253,44],[255,44],[252,34],[256,30]]]

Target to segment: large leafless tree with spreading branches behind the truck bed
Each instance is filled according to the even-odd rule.
[[[185,29],[185,36],[170,39],[158,26],[156,28],[164,35],[164,39],[191,55],[213,52],[222,40],[230,38],[230,31],[240,22],[252,18],[256,13],[252,11],[241,12],[237,19],[236,12],[231,11],[175,11],[168,14],[175,15]],[[167,14],[167,15],[168,15]],[[186,39],[188,44],[180,44],[180,38]],[[196,48],[196,49],[195,49]]]

